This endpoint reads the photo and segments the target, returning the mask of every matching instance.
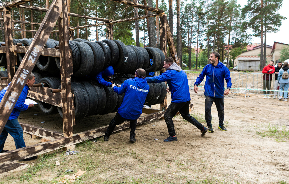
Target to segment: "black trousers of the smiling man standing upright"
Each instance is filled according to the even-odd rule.
[[[224,107],[224,97],[223,98],[212,98],[205,96],[205,120],[208,127],[212,127],[212,104],[215,102],[219,117],[219,126],[224,125],[225,107]]]

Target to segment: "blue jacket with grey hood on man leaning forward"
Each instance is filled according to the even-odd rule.
[[[149,83],[161,83],[166,81],[171,90],[171,98],[174,103],[191,100],[187,74],[173,63],[164,73],[156,77],[146,77]]]

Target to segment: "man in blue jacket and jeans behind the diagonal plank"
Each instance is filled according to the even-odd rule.
[[[33,86],[34,82],[35,82],[35,76],[33,73],[31,73],[31,75],[29,76],[27,83],[25,84],[25,86],[24,86],[15,106],[14,106],[14,109],[12,110],[12,112],[8,118],[8,121],[6,122],[5,127],[4,127],[4,129],[0,135],[0,153],[8,151],[8,150],[3,150],[4,143],[7,139],[8,133],[13,137],[16,149],[25,147],[25,142],[23,139],[23,129],[18,122],[18,116],[19,116],[21,111],[25,111],[29,107],[34,106],[33,103],[31,103],[29,105],[24,104],[25,99],[26,99],[27,94],[28,94],[28,90]],[[10,83],[9,83],[9,85],[10,85]],[[9,85],[6,86],[0,92],[0,101],[2,100]],[[34,159],[37,159],[37,156],[29,157],[27,159],[23,159],[23,160],[19,160],[19,161],[29,161],[29,160],[34,160]]]

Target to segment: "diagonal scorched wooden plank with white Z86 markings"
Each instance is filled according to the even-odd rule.
[[[53,0],[47,14],[43,19],[43,22],[41,23],[34,37],[34,40],[32,40],[32,43],[29,46],[29,49],[25,54],[16,74],[14,75],[11,84],[9,85],[5,95],[1,100],[0,112],[2,112],[2,116],[0,119],[0,132],[2,132],[15,106],[15,102],[18,100],[19,95],[21,94],[24,86],[26,85],[26,82],[28,80],[27,76],[31,74],[36,64],[35,61],[38,60],[40,56],[39,53],[41,52],[45,43],[48,40],[53,26],[55,25],[57,18],[60,15],[61,7],[62,4],[60,0]]]

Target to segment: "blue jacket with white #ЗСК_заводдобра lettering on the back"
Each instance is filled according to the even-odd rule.
[[[121,87],[118,88],[114,86],[113,90],[117,94],[125,93],[123,103],[117,110],[118,114],[125,119],[138,119],[142,114],[143,104],[149,92],[147,81],[138,77],[127,79],[123,82]]]

